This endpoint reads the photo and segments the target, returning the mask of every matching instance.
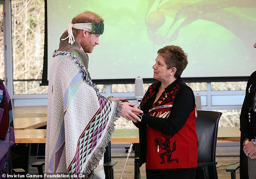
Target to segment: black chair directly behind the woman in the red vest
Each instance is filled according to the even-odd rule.
[[[222,112],[197,111],[195,125],[198,136],[196,179],[218,179],[216,168],[216,144],[218,123]]]

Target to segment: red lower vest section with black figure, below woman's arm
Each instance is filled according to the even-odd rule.
[[[195,110],[176,134],[164,134],[147,126],[147,169],[197,167],[197,135]],[[159,152],[157,152],[157,146]]]

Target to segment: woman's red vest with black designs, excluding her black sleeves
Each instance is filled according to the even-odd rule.
[[[151,98],[157,83],[149,87]],[[169,92],[161,96],[155,102],[148,114],[154,117],[168,118],[174,98],[180,90],[179,84],[175,84]],[[144,96],[145,97],[145,96]],[[141,105],[145,104],[143,100]],[[195,126],[195,108],[189,114],[185,125],[175,134],[162,133],[147,126],[147,169],[181,169],[197,167],[198,138]],[[159,148],[159,152],[157,152]]]

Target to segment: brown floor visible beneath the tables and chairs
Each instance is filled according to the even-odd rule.
[[[129,144],[128,144],[129,146]],[[114,167],[115,179],[133,179],[134,178],[134,153],[131,152],[127,158],[125,148],[112,146],[111,149],[112,161],[118,161],[118,164]],[[42,161],[43,159],[37,159],[36,156],[31,156],[30,163],[36,161]],[[127,160],[127,163],[126,163]],[[230,179],[230,173],[225,171],[225,168],[230,164],[236,164],[239,162],[239,146],[223,146],[219,145],[216,149],[216,162],[218,170],[218,179]],[[125,166],[125,168],[124,168]],[[29,173],[37,174],[37,169],[30,166]],[[145,165],[140,169],[141,178],[145,178]],[[239,179],[239,170],[236,173],[236,178]]]

